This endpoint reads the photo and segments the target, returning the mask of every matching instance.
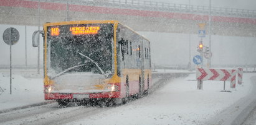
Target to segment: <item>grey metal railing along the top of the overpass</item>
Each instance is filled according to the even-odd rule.
[[[40,2],[56,2],[89,6],[117,7],[138,9],[145,11],[180,12],[188,14],[209,14],[209,6],[194,6],[188,4],[173,4],[168,2],[140,1],[140,0],[30,0]],[[256,19],[256,10],[211,7],[211,15],[225,17],[242,17]]]

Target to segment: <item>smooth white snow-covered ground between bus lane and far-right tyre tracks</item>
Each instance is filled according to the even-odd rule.
[[[253,75],[256,74],[245,74],[244,85],[237,85],[234,90],[227,85],[226,88],[232,91],[229,93],[220,92],[223,83],[214,81],[205,81],[204,90],[197,90],[195,74],[191,74],[186,79],[169,81],[140,100],[68,124],[208,124],[252,92],[250,77]]]

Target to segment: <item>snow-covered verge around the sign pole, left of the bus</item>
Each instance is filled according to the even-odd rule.
[[[44,101],[43,79],[34,71],[19,70],[12,74],[12,94],[8,70],[0,71],[0,110],[31,105]]]

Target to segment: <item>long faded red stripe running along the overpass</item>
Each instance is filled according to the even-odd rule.
[[[24,0],[2,0],[0,6],[10,7],[26,7],[37,9],[37,1],[24,1]],[[53,2],[40,2],[41,9],[64,11],[66,4],[53,3]],[[208,21],[208,15],[196,15],[196,14],[182,14],[176,12],[159,12],[159,11],[143,11],[135,9],[118,9],[110,7],[97,7],[97,6],[83,6],[83,5],[69,5],[70,11],[77,12],[93,12],[99,14],[119,14],[119,15],[135,15],[141,17],[161,17],[169,19],[184,19],[184,20],[203,20]],[[245,23],[245,24],[256,24],[256,19],[240,18],[240,17],[222,17],[212,16],[213,22],[232,22],[232,23]]]

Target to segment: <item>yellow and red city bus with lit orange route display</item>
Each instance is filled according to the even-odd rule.
[[[45,23],[44,99],[125,103],[151,87],[150,42],[117,20]]]

